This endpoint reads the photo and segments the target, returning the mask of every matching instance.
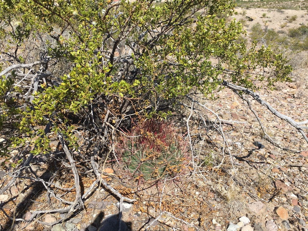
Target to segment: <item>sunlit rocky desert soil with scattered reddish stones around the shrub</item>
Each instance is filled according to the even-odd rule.
[[[250,11],[247,10],[247,15],[253,15],[257,21],[262,9]],[[260,15],[255,11],[260,11]],[[307,15],[301,17],[298,11],[285,12],[288,15],[297,14],[301,20],[307,19]],[[274,22],[276,16],[273,15],[276,13],[267,14],[273,20],[270,25],[277,27],[283,22],[283,17],[281,22]],[[308,119],[308,55],[301,53],[294,57],[297,60],[293,63],[294,83],[278,83],[277,90],[261,89],[256,93],[280,113],[300,122]],[[256,84],[262,86],[260,82]],[[226,147],[220,168],[215,168],[223,159],[217,147],[223,146],[224,140],[213,129],[202,127],[197,115],[194,115],[189,121],[190,132],[201,134],[196,145],[199,149],[195,150],[194,169],[190,163],[189,172],[168,181],[146,184],[126,182],[134,188],[127,188],[114,178],[106,178],[108,184],[122,195],[136,199],[134,204],[123,204],[121,230],[308,230],[308,144],[302,135],[249,98],[265,132],[277,143],[274,145],[264,138],[264,131],[257,119],[236,94],[223,89],[217,92],[217,96],[219,99],[215,103],[205,100],[202,103],[223,120],[221,127],[229,147]],[[202,114],[209,121],[216,120],[209,111],[203,110]],[[186,123],[186,118],[181,117],[183,123]],[[193,140],[197,138],[193,137]],[[264,148],[257,149],[254,141],[263,144]],[[53,141],[51,146],[55,151],[61,149],[57,141]],[[57,182],[63,188],[72,187],[70,172],[46,171],[52,169],[47,164],[50,159],[48,155],[36,157],[36,164],[32,166],[36,175]],[[110,164],[108,167],[113,168],[115,175],[125,181],[125,172],[119,166]],[[4,169],[1,170],[0,184],[11,178]],[[33,176],[31,172],[27,174]],[[94,180],[87,176],[81,178],[84,191]],[[119,200],[102,185],[87,199],[85,210],[52,227],[36,221],[30,224],[16,221],[12,224],[4,215],[4,212],[16,216],[19,213],[19,217],[28,219],[36,210],[65,207],[52,198],[49,201],[47,193],[50,192],[46,192],[39,182],[34,183],[29,178],[17,180],[6,193],[0,195],[0,206],[3,207],[0,211],[0,230],[118,230]],[[64,196],[67,200],[75,197],[74,193]],[[61,213],[47,212],[39,219],[51,223],[62,216]]]

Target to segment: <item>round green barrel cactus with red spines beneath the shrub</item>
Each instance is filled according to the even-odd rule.
[[[120,136],[120,153],[133,177],[145,180],[174,176],[184,169],[186,143],[164,121],[146,120]]]

